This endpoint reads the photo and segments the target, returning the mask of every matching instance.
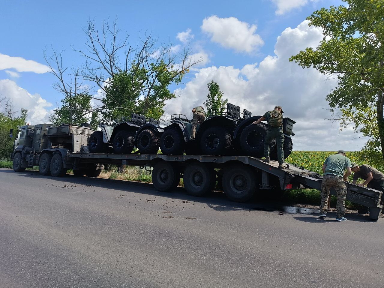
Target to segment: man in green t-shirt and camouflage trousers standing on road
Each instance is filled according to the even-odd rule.
[[[330,155],[325,159],[323,164],[323,182],[321,183],[321,204],[320,216],[326,217],[328,210],[328,198],[331,189],[336,190],[336,220],[346,221],[345,214],[345,198],[347,196],[347,187],[344,181],[352,173],[351,160],[345,156],[345,151],[339,150],[336,154]],[[347,172],[344,174],[344,170]]]

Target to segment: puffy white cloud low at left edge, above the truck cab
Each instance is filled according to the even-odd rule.
[[[51,103],[41,98],[39,94],[30,94],[10,79],[0,80],[0,95],[12,101],[15,111],[28,109],[26,121],[31,124],[48,123],[48,117],[53,113]]]

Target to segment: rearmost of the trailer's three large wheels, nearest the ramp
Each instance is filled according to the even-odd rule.
[[[230,165],[224,169],[223,191],[235,202],[250,200],[256,192],[256,175],[251,167]]]

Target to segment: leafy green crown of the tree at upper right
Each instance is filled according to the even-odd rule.
[[[323,29],[324,38],[316,49],[306,48],[290,61],[337,77],[338,86],[327,95],[331,108],[340,108],[335,119],[341,129],[354,123],[384,157],[384,1],[345,2],[307,18]]]

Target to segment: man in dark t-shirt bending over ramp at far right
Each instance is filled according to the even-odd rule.
[[[351,164],[351,170],[354,172],[352,182],[353,184],[356,184],[356,181],[361,178],[365,181],[359,185],[367,185],[369,188],[376,189],[384,193],[384,174],[382,174],[382,172],[367,164],[360,166],[354,162]]]

